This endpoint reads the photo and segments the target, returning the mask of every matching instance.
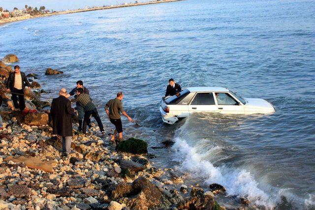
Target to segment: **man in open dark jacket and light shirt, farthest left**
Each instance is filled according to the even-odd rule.
[[[20,71],[20,66],[14,66],[14,72],[10,73],[6,82],[7,91],[11,90],[12,100],[14,107],[23,111],[25,109],[24,101],[24,88],[28,86],[30,88],[30,82],[26,78],[25,74]],[[19,102],[18,102],[19,101]]]

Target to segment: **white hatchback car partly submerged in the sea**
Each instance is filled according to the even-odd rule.
[[[186,88],[179,96],[162,98],[159,111],[162,120],[174,124],[180,118],[186,118],[196,112],[214,112],[222,114],[272,114],[275,108],[260,98],[243,98],[221,87]]]

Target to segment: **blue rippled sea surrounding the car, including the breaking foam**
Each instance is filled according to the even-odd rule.
[[[126,94],[125,133],[150,146],[156,165],[202,186],[276,209],[315,208],[315,1],[188,0],[38,18],[0,26],[0,57],[14,53],[50,96],[82,79],[103,116]],[[44,69],[65,73],[46,77]],[[222,86],[264,98],[269,116],[192,115],[168,126],[158,106],[167,80]],[[224,198],[221,198],[223,201]]]

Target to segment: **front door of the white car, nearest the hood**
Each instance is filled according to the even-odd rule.
[[[245,114],[244,105],[228,92],[216,92],[218,111],[222,114]]]

